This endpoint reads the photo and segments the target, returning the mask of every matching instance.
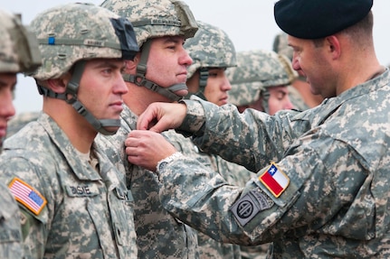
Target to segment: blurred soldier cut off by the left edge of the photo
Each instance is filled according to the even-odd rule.
[[[41,65],[38,42],[16,15],[0,10],[0,153],[7,122],[14,116],[16,74]],[[3,172],[0,172],[0,175]],[[0,183],[0,258],[23,258],[19,209],[8,188]]]

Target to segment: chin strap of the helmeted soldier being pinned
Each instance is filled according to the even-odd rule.
[[[151,91],[157,92],[158,94],[167,97],[172,101],[179,101],[183,97],[176,95],[178,90],[187,90],[185,83],[176,84],[170,86],[169,88],[163,88],[157,85],[155,82],[152,82],[146,79],[147,74],[147,58],[149,56],[151,41],[148,40],[142,46],[141,57],[137,66],[137,75],[123,74],[123,79],[127,82],[133,83],[138,87],[148,88]]]

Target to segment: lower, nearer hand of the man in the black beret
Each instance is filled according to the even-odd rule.
[[[176,153],[176,148],[163,135],[151,131],[132,131],[125,145],[128,162],[149,171],[156,171],[158,162]]]

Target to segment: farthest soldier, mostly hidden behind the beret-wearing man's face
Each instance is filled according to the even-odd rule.
[[[275,36],[272,50],[292,60],[292,48],[287,42],[287,33],[281,32]],[[290,99],[297,109],[303,111],[318,106],[322,102],[323,97],[313,95],[310,92],[309,83],[306,82],[306,77],[300,71],[299,73],[299,77],[292,82]]]

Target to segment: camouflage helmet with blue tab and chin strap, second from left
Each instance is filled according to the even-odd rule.
[[[43,66],[32,74],[39,93],[62,99],[101,134],[115,134],[106,127],[120,126],[119,119],[97,119],[77,97],[87,60],[133,60],[138,53],[131,23],[118,14],[92,4],[58,5],[38,14],[31,23],[43,55]],[[45,88],[41,81],[59,79],[71,70],[64,93]]]

